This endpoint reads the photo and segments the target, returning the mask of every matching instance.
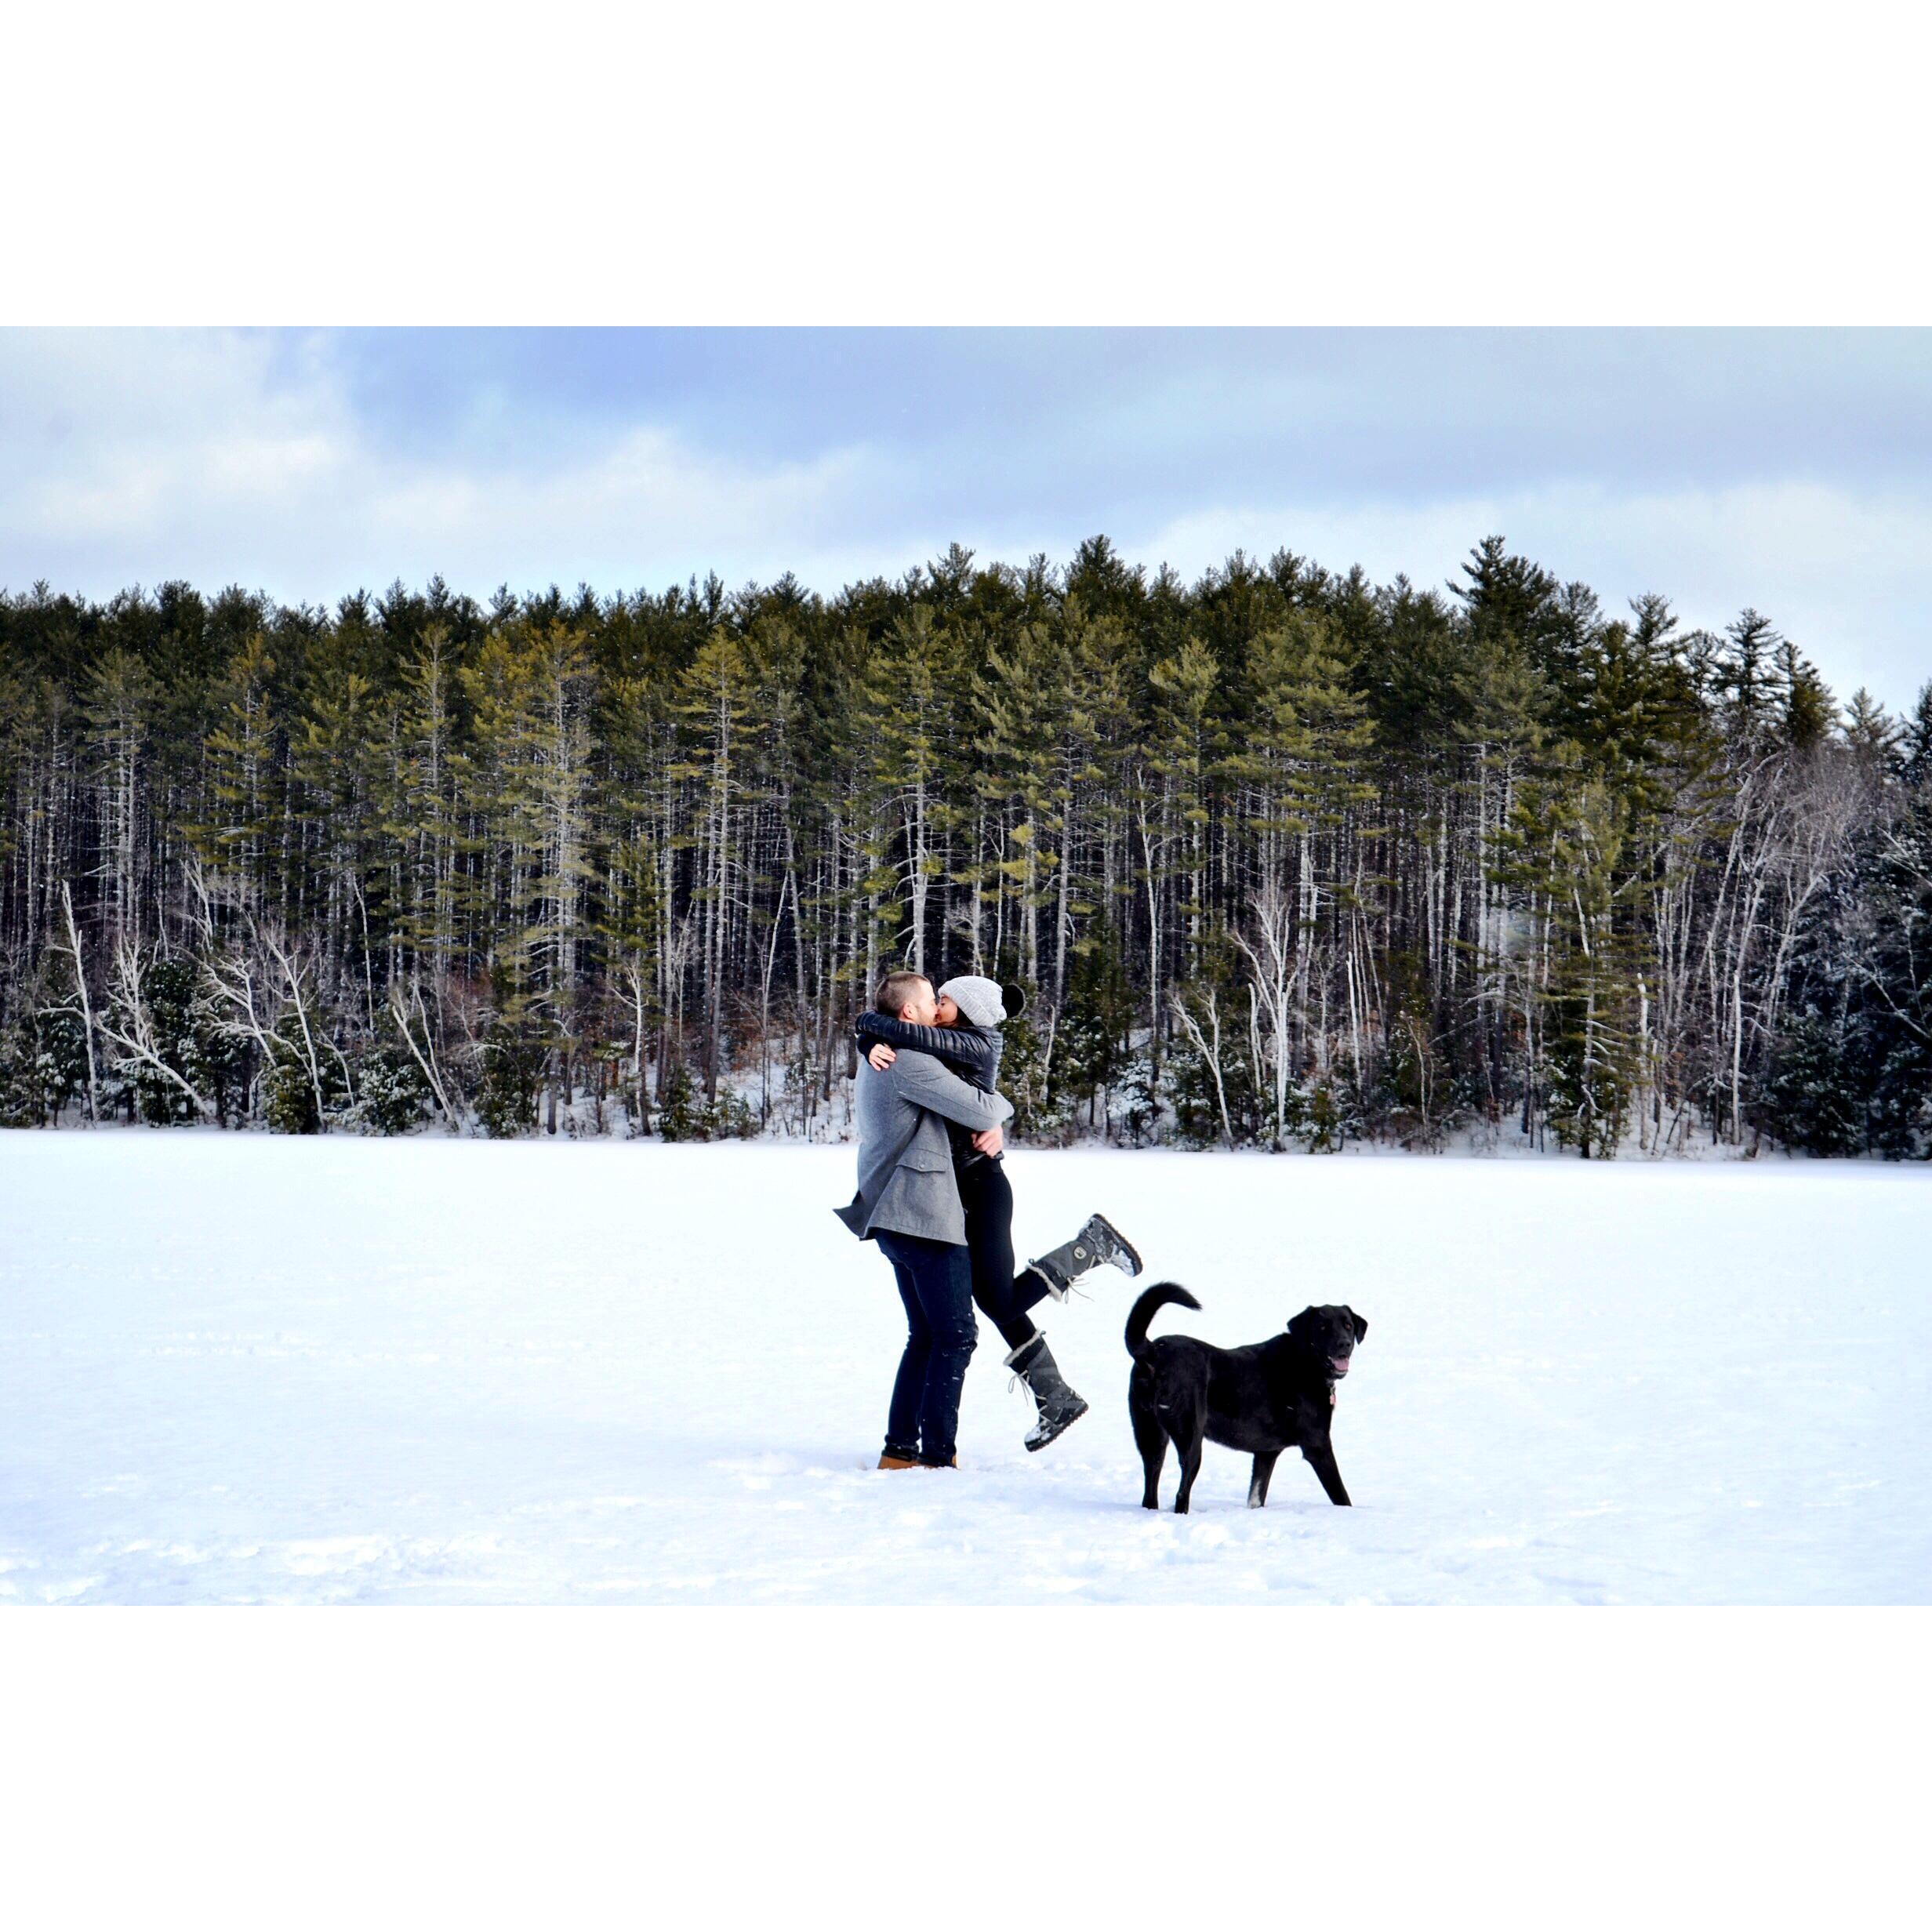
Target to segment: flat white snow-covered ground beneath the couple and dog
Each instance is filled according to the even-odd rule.
[[[1256,1341],[1370,1329],[1354,1509],[1209,1445],[1138,1507],[1115,1271],[981,1321],[956,1472],[879,1472],[902,1337],[852,1153],[0,1134],[0,1602],[1876,1604],[1932,1596],[1932,1175],[1866,1163],[1009,1155]],[[1169,1457],[1163,1503],[1173,1501]]]

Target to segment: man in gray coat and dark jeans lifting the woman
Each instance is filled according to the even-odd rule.
[[[939,1016],[923,974],[879,983],[881,1012],[931,1026]],[[879,1468],[951,1468],[958,1459],[960,1387],[980,1327],[972,1314],[972,1260],[947,1121],[993,1136],[1012,1119],[999,1094],[981,1094],[929,1053],[904,1053],[879,1070],[862,1063],[858,1194],[837,1209],[860,1240],[877,1240],[906,1306],[906,1347],[893,1381]]]

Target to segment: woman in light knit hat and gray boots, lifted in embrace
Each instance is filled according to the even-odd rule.
[[[1024,1005],[1018,987],[1001,987],[978,974],[947,980],[937,991],[937,1024],[922,1026],[885,1012],[858,1018],[860,1051],[881,1072],[898,1051],[931,1053],[981,1094],[999,1080],[1005,1039],[999,1028]],[[1005,1337],[1007,1366],[1026,1383],[1037,1414],[1026,1432],[1028,1449],[1043,1449],[1070,1430],[1088,1410],[1061,1376],[1047,1337],[1030,1310],[1049,1294],[1066,1300],[1072,1283],[1092,1267],[1111,1264],[1124,1275],[1140,1273],[1140,1256],[1105,1215],[1090,1215],[1072,1240],[1039,1256],[1014,1273],[1012,1184],[1003,1159],[999,1128],[974,1134],[947,1122],[960,1206],[966,1209],[966,1248],[972,1260],[972,1298]]]

